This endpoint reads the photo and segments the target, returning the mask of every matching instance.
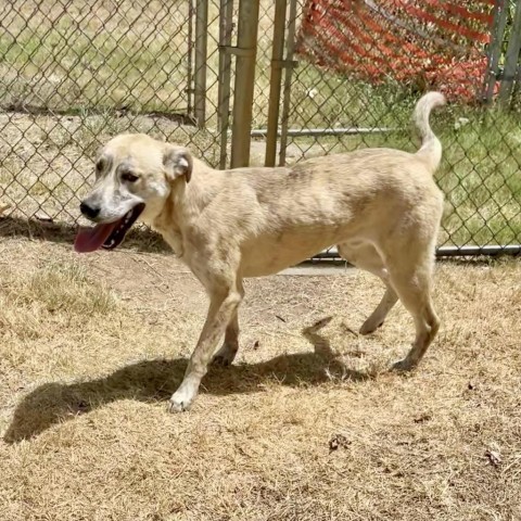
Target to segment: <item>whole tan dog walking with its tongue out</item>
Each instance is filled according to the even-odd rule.
[[[360,332],[380,327],[399,297],[415,319],[416,339],[394,367],[418,364],[440,325],[431,275],[443,196],[432,175],[442,147],[429,115],[444,103],[437,92],[418,102],[415,122],[422,145],[415,154],[366,149],[292,168],[223,171],[183,147],[144,135],[118,136],[104,147],[96,185],[80,205],[98,226],[79,232],[76,250],[115,247],[139,217],[163,234],[209,295],[206,322],[170,410],[190,407],[213,357],[233,360],[242,279],[276,274],[333,244],[386,285]]]

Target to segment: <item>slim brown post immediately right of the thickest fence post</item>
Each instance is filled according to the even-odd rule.
[[[264,164],[275,166],[277,135],[279,126],[280,87],[284,58],[284,28],[287,0],[276,0],[274,21],[274,46],[271,51],[271,74],[269,78],[268,134]]]

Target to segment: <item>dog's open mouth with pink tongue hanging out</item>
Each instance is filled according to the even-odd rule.
[[[114,250],[125,239],[125,233],[136,223],[143,209],[144,204],[139,203],[114,223],[96,225],[92,228],[80,228],[74,241],[74,249],[78,253],[94,252],[100,247]]]

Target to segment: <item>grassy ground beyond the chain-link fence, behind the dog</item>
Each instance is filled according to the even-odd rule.
[[[88,9],[50,0],[5,5],[0,105],[17,112],[0,114],[0,212],[2,203],[10,203],[9,213],[18,217],[76,221],[78,201],[92,181],[96,150],[119,132],[142,131],[188,144],[207,163],[218,164],[216,0],[208,2],[206,128],[156,113],[193,116],[188,5],[157,0],[94,0]],[[254,128],[267,126],[274,10],[272,1],[262,0]],[[237,28],[237,12],[234,23]],[[394,82],[376,87],[355,81],[295,58],[300,64],[292,75],[290,127],[397,130],[289,138],[288,163],[368,145],[416,150],[407,129],[417,92]],[[28,115],[27,107],[58,114]],[[456,105],[440,111],[433,126],[444,145],[436,180],[447,200],[440,245],[519,243],[519,114]],[[263,163],[264,155],[264,141],[253,142],[252,162]]]

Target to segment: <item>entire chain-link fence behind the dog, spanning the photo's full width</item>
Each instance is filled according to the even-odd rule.
[[[425,89],[447,91],[450,77],[465,96],[448,88],[450,105],[432,118],[444,145],[440,246],[520,244],[520,4],[288,0],[281,10],[260,0],[250,162],[264,164],[270,147],[274,86],[277,162],[293,164],[360,147],[414,151],[414,105]],[[277,7],[283,41],[274,59]],[[230,165],[238,0],[15,0],[0,17],[4,215],[75,223],[92,157],[118,132]],[[418,49],[430,54],[419,61]]]

